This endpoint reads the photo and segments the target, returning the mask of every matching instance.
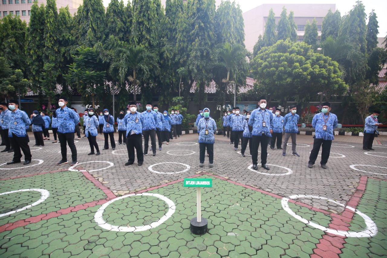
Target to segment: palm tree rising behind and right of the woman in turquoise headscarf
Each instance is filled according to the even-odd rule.
[[[227,86],[230,81],[230,75],[234,77],[235,81],[244,76],[248,71],[249,56],[250,52],[240,44],[231,45],[226,42],[214,50],[215,62],[212,66],[224,67],[227,70],[226,85],[224,87],[224,105],[226,105]]]

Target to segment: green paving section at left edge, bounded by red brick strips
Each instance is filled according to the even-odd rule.
[[[50,196],[37,206],[0,217],[0,225],[106,198],[103,191],[87,180],[82,172],[56,172],[0,181],[0,193],[29,188],[46,189]],[[0,213],[23,208],[40,197],[41,194],[35,191],[4,194],[0,196]]]

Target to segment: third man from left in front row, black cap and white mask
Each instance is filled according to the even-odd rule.
[[[144,152],[142,151],[142,126],[144,117],[137,112],[137,106],[134,101],[129,103],[130,112],[125,115],[123,122],[126,126],[126,148],[128,150],[128,162],[125,166],[134,163],[134,149],[137,154],[137,165],[140,167],[144,163]]]

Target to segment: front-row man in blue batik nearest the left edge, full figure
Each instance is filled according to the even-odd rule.
[[[12,161],[7,162],[7,165],[21,162],[22,153],[20,149],[24,154],[23,165],[31,163],[32,159],[26,132],[26,127],[31,124],[31,120],[28,119],[26,112],[19,109],[19,105],[17,103],[17,100],[10,100],[8,106],[12,112],[8,124],[8,137],[10,138],[12,147],[14,148],[14,158]]]

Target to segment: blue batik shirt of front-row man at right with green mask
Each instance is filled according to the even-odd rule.
[[[327,126],[326,131],[323,130],[324,125]],[[334,139],[333,129],[337,127],[337,116],[332,113],[329,113],[329,115],[324,115],[324,113],[316,114],[313,117],[312,126],[315,129],[314,138],[332,141]]]

